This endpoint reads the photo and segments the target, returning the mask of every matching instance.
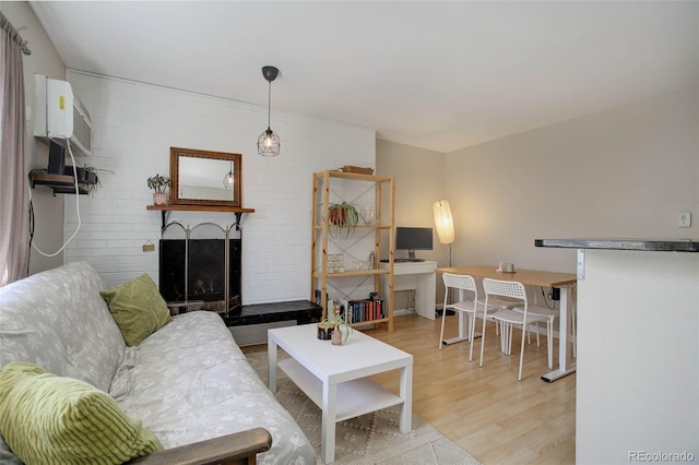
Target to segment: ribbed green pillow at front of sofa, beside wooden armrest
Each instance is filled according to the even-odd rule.
[[[0,371],[0,432],[25,464],[120,464],[163,449],[109,394],[24,361]]]

